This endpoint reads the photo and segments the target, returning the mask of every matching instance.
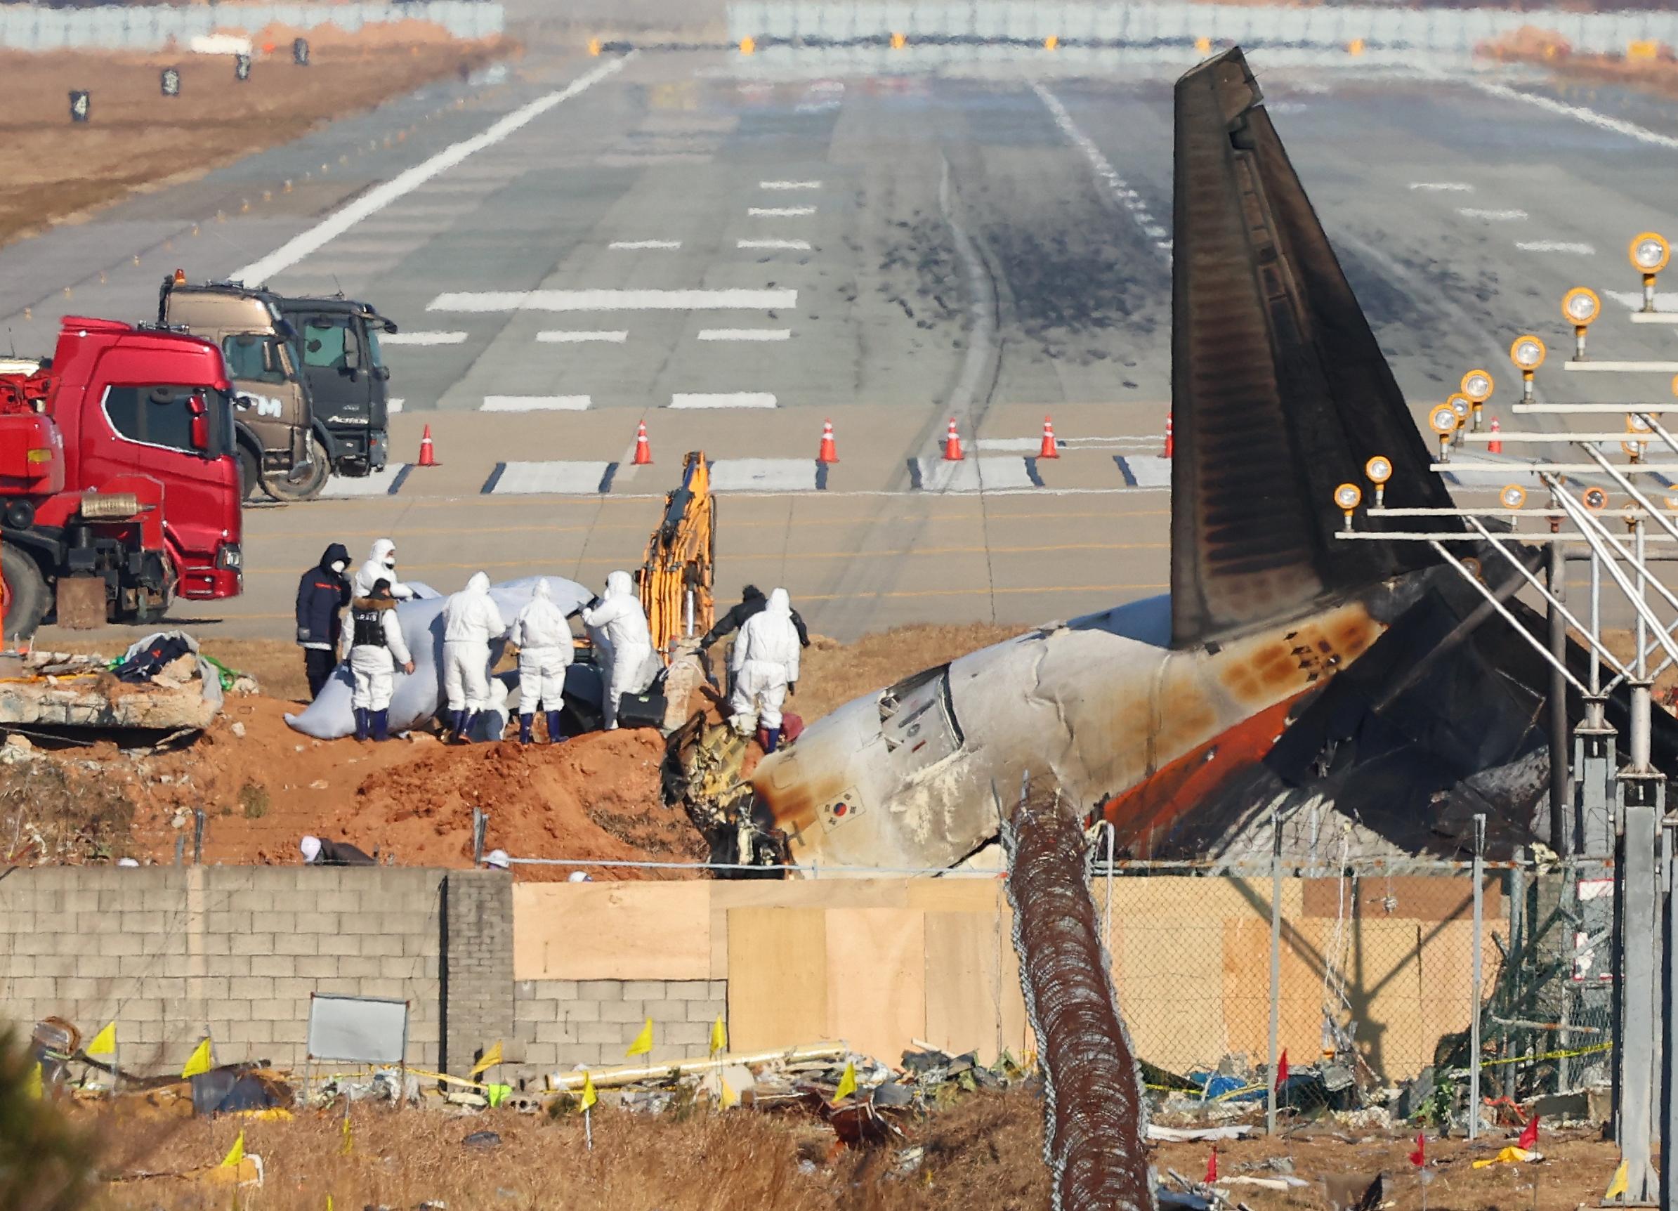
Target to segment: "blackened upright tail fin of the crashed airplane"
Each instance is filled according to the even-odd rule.
[[[1431,562],[1331,537],[1369,458],[1389,505],[1450,496],[1240,50],[1176,84],[1175,185],[1171,646],[1191,647]]]

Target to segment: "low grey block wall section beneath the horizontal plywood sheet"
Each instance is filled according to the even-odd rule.
[[[512,1075],[629,1063],[624,1050],[648,1018],[651,1062],[703,1057],[711,1023],[727,1013],[727,980],[520,980],[513,1035],[522,1063]]]

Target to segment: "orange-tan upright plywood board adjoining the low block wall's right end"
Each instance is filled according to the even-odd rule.
[[[728,1048],[762,1052],[832,1038],[822,909],[728,912]]]

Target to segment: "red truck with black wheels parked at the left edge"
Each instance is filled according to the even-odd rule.
[[[233,396],[221,351],[67,315],[50,362],[0,372],[5,636],[146,622],[242,589]]]

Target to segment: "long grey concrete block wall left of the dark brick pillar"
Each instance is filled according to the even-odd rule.
[[[0,1020],[117,1023],[124,1068],[302,1065],[312,993],[409,1003],[408,1062],[441,1043],[441,871],[62,867],[0,879]],[[510,941],[507,943],[510,951]],[[510,959],[508,959],[510,964]],[[508,969],[508,981],[510,981]]]

